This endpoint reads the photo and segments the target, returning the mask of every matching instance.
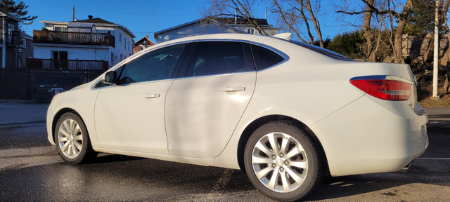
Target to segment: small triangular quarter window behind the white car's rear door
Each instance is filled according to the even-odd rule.
[[[278,62],[284,60],[281,55],[278,55],[272,50],[264,48],[262,46],[257,46],[252,44],[252,53],[255,58],[256,68],[258,70],[266,69],[267,67],[271,67],[276,65]]]

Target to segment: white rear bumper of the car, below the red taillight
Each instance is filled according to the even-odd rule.
[[[364,95],[311,130],[321,141],[333,176],[401,170],[428,147],[428,115],[404,101]]]

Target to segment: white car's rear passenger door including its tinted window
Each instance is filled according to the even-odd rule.
[[[193,43],[167,92],[166,126],[174,156],[214,158],[225,148],[255,89],[248,43]],[[184,74],[184,72],[186,72]]]

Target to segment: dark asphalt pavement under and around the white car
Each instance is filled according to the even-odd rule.
[[[27,116],[27,110],[0,108],[0,201],[271,201],[240,170],[114,154],[70,165],[47,142],[39,113],[39,119],[1,123],[18,113]],[[1,119],[5,114],[11,117]],[[430,147],[407,172],[326,177],[305,201],[450,201],[450,122],[439,121],[449,115],[434,114]]]

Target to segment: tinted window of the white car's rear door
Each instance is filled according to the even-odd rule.
[[[204,41],[193,47],[186,76],[207,76],[255,71],[248,43]],[[246,54],[248,53],[248,54]]]

